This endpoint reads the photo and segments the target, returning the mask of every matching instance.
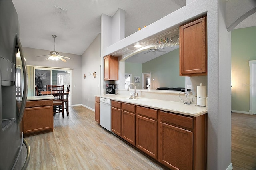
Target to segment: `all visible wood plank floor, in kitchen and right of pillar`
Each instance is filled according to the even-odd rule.
[[[163,170],[94,121],[94,112],[70,107],[54,116],[54,132],[26,137],[31,158],[28,170]],[[232,113],[233,170],[256,170],[256,115]]]

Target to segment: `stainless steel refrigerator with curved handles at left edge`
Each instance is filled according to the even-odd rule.
[[[20,123],[27,98],[26,61],[18,38],[17,12],[11,0],[0,0],[0,169],[26,169],[30,148]],[[26,147],[25,147],[26,146]],[[26,148],[26,156],[22,154]]]

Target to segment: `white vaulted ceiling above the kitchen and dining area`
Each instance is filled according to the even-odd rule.
[[[100,16],[125,10],[125,37],[185,6],[185,0],[12,0],[22,46],[82,55],[100,33]],[[250,16],[236,28],[248,27]],[[254,25],[252,25],[254,26]],[[159,26],[160,27],[160,26]],[[42,54],[44,55],[44,54]]]

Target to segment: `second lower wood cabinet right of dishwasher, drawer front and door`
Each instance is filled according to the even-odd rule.
[[[135,105],[122,103],[122,138],[135,146]]]

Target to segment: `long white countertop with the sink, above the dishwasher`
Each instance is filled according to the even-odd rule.
[[[207,113],[206,107],[195,106],[194,104],[186,105],[182,102],[148,99],[148,98],[140,98],[140,97],[137,97],[137,99],[128,99],[129,96],[125,96],[125,95],[95,95],[95,96],[106,98],[106,99],[112,99],[115,101],[140,105],[144,107],[150,107],[150,108],[159,109],[163,111],[180,113],[182,115],[189,115],[194,117],[204,115],[205,113]]]

